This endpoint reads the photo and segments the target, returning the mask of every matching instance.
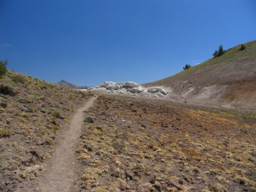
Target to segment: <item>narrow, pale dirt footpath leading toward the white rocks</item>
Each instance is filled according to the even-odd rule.
[[[43,178],[40,178],[36,191],[79,191],[79,184],[76,184],[77,171],[79,172],[76,161],[77,140],[83,125],[83,111],[88,110],[96,98],[92,97],[88,100],[72,118],[70,127],[58,143]]]

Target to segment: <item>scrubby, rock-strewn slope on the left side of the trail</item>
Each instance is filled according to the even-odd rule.
[[[56,134],[88,97],[10,70],[0,79],[0,191],[40,173]]]

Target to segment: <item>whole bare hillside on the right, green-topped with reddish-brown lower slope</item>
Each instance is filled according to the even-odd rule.
[[[199,104],[256,109],[256,42],[228,49],[174,76],[147,83],[168,86],[170,99]]]

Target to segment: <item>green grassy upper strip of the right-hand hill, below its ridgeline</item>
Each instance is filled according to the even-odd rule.
[[[256,41],[247,42],[244,44],[246,49],[243,51],[239,51],[241,45],[237,45],[236,47],[232,47],[225,51],[225,54],[221,55],[217,58],[211,58],[210,60],[204,61],[200,65],[196,65],[191,67],[187,70],[183,70],[174,76],[166,77],[159,81],[154,81],[152,83],[146,83],[147,86],[150,85],[165,85],[168,83],[172,83],[177,79],[180,79],[184,76],[188,76],[190,74],[195,74],[198,71],[202,71],[207,69],[208,67],[218,67],[218,65],[225,64],[225,63],[237,63],[239,61],[243,62],[244,60],[250,60],[256,58]],[[212,50],[213,52],[213,50]]]

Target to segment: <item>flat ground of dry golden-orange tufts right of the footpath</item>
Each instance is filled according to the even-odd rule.
[[[84,190],[255,190],[256,121],[244,113],[102,96],[90,114]]]

